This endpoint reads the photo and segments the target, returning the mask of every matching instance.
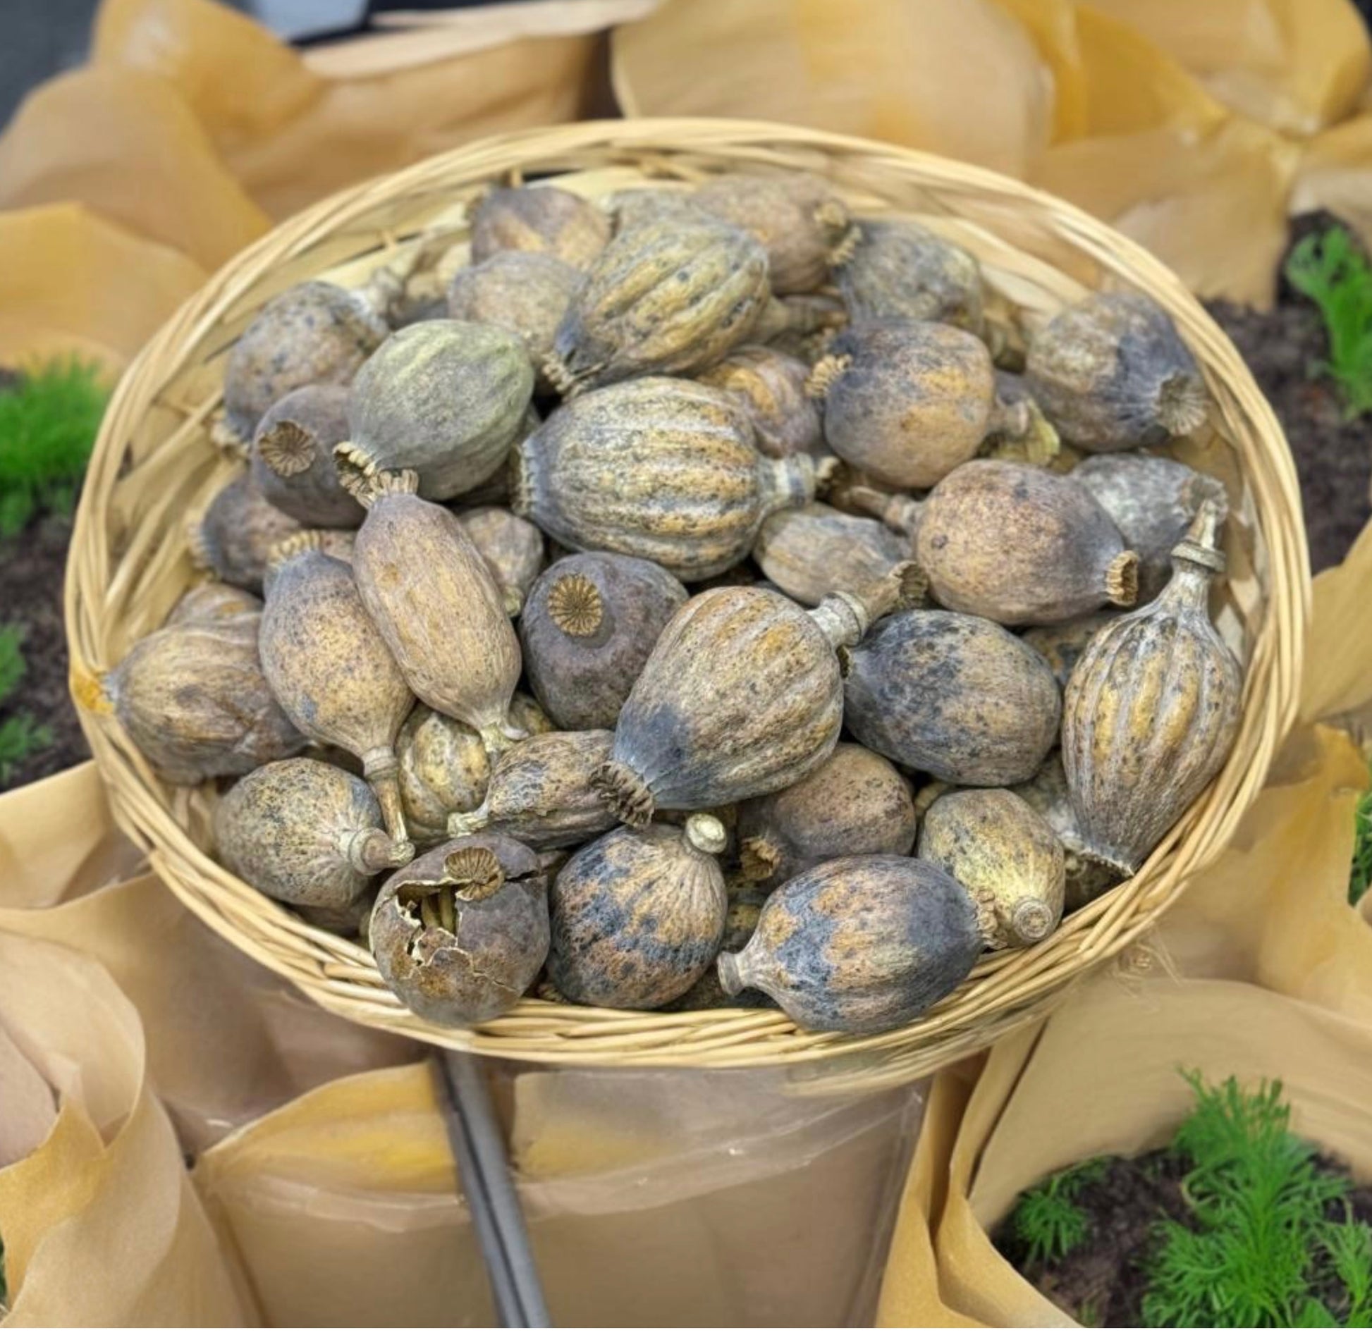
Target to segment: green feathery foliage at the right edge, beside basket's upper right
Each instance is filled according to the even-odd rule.
[[[1329,361],[1343,410],[1360,417],[1372,409],[1372,268],[1343,228],[1303,237],[1286,263],[1290,284],[1309,296],[1324,317]]]

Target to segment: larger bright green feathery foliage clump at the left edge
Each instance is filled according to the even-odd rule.
[[[99,368],[75,358],[0,391],[0,538],[40,509],[70,512],[107,398]]]

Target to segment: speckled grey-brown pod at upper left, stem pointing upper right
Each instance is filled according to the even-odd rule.
[[[262,414],[306,384],[347,384],[390,328],[366,292],[300,283],[252,317],[224,368],[229,427],[250,440]]]

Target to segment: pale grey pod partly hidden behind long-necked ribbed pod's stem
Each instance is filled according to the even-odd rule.
[[[1172,578],[1172,549],[1185,536],[1202,501],[1228,510],[1224,483],[1174,458],[1093,454],[1072,471],[1139,553],[1139,601],[1162,593]]]

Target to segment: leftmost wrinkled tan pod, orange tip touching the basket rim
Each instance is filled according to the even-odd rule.
[[[258,661],[261,617],[246,612],[165,626],[77,700],[113,712],[167,783],[247,774],[305,749]]]

